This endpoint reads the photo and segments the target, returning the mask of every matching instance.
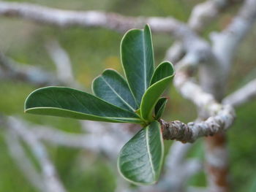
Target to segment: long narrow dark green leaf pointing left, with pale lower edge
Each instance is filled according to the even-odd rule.
[[[39,88],[30,93],[25,101],[25,112],[82,120],[143,123],[134,112],[89,93],[64,87]]]

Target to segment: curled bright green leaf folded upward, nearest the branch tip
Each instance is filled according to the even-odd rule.
[[[157,104],[159,96],[165,91],[170,84],[174,75],[173,65],[170,62],[163,62],[157,66],[151,82],[153,83],[146,93],[143,95],[143,99],[140,104],[140,114],[144,120],[152,121],[152,113],[154,106]]]

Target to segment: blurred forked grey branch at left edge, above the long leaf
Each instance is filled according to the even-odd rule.
[[[18,64],[0,52],[0,79],[28,82],[38,87],[45,85],[67,85],[82,88],[72,74],[72,64],[69,55],[59,45],[59,42],[53,40],[48,42],[45,47],[50,58],[53,60],[53,64],[56,65],[56,75],[45,72],[36,66]]]

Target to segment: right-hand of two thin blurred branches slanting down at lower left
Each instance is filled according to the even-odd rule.
[[[42,169],[42,180],[45,185],[45,191],[49,192],[65,192],[64,185],[62,185],[57,176],[55,167],[53,166],[45,146],[34,137],[34,134],[26,128],[26,123],[17,118],[8,117],[7,126],[12,131],[15,131],[20,138],[31,148],[34,157],[37,158],[39,166]]]

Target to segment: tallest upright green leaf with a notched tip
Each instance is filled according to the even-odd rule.
[[[121,62],[129,88],[138,104],[149,86],[154,72],[151,30],[132,29],[121,41]]]

